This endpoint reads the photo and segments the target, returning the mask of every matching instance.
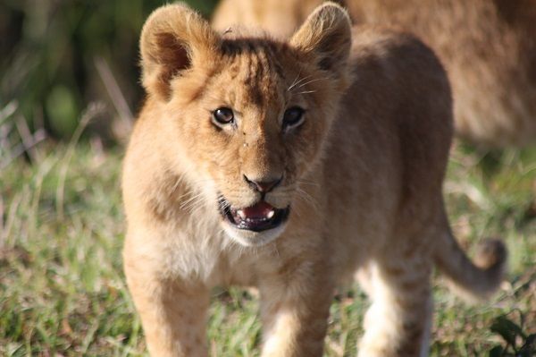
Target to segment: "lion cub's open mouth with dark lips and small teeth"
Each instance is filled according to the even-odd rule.
[[[218,207],[222,217],[238,229],[262,232],[281,225],[289,217],[290,208],[274,208],[264,200],[247,208],[232,208],[230,203],[220,196]]]

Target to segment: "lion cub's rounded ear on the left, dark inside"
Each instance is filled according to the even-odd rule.
[[[147,19],[139,47],[147,93],[162,100],[170,97],[170,82],[181,71],[204,62],[214,53],[219,37],[210,25],[185,4],[156,9]]]

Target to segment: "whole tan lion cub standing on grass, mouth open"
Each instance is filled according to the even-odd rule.
[[[205,356],[215,285],[256,286],[263,356],[321,356],[335,286],[362,268],[361,356],[425,355],[431,270],[486,296],[441,197],[445,72],[408,35],[323,4],[289,39],[216,33],[186,5],[142,31],[147,102],[125,157],[124,268],[154,356]]]

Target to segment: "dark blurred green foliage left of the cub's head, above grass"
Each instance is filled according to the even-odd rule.
[[[21,116],[30,132],[44,129],[64,140],[89,103],[102,103],[92,130],[106,140],[124,139],[142,95],[139,32],[147,14],[165,3],[2,0],[0,108]],[[188,3],[208,15],[216,0]]]

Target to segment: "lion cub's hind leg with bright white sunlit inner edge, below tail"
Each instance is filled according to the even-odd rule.
[[[428,355],[431,262],[418,250],[407,252],[374,259],[370,266],[373,303],[364,317],[360,357]]]

